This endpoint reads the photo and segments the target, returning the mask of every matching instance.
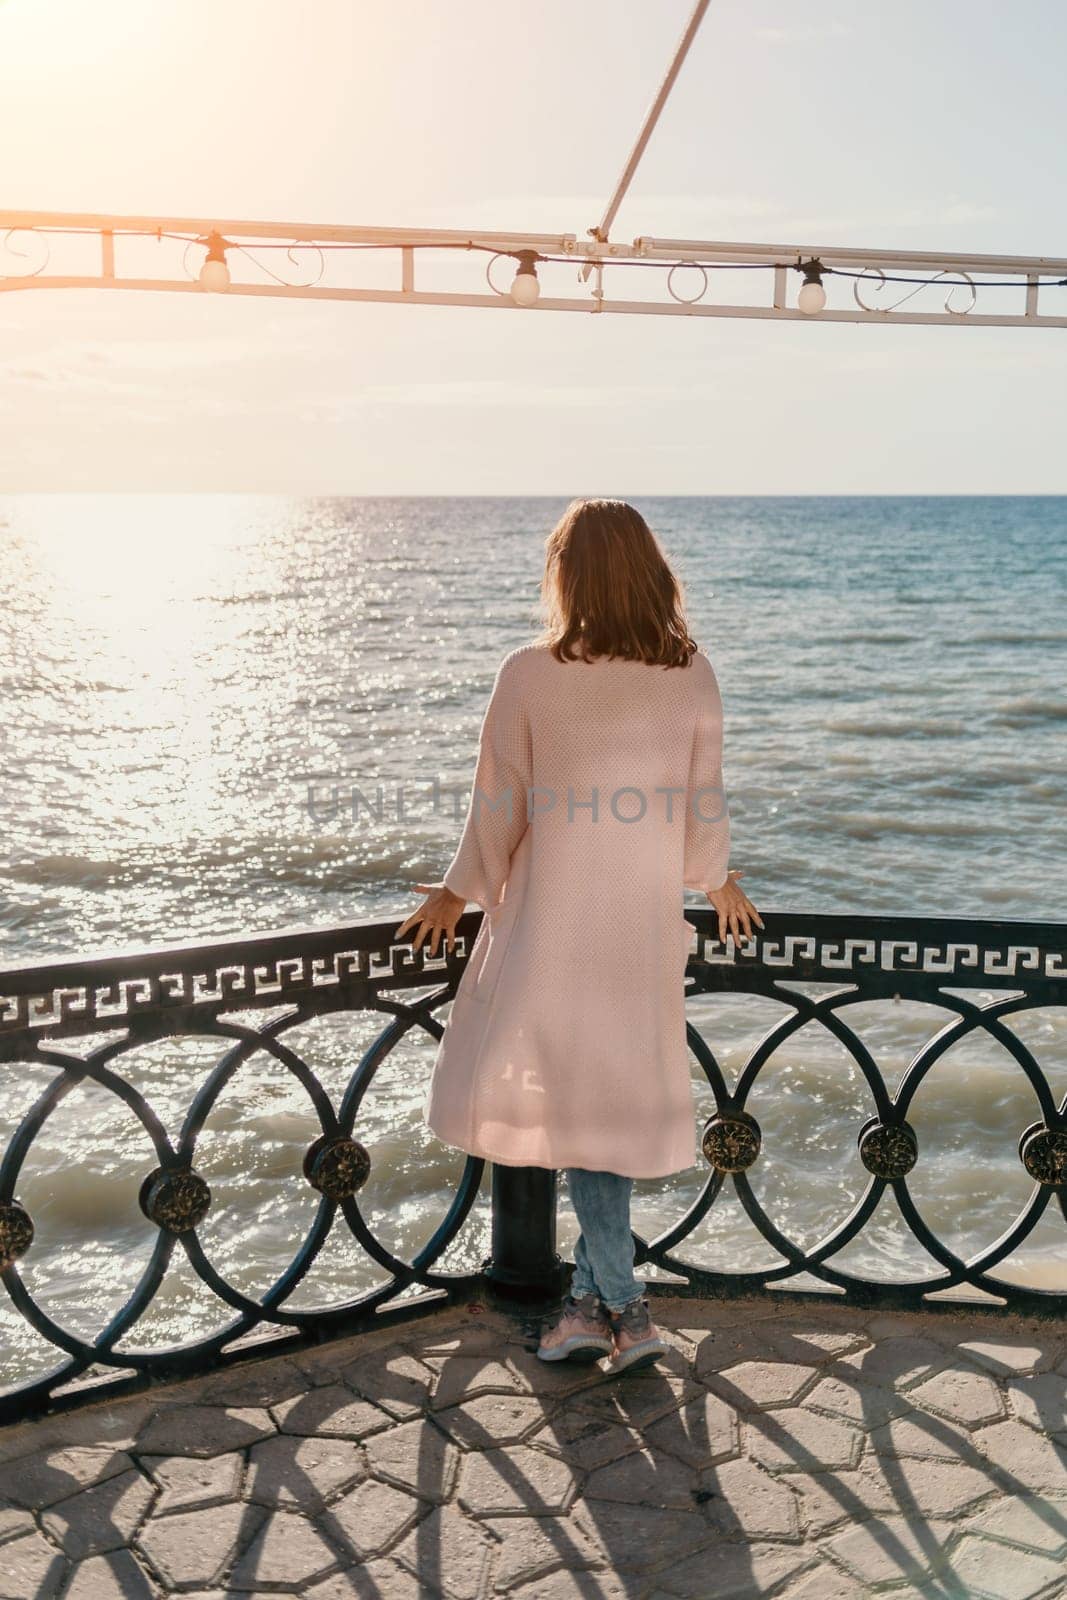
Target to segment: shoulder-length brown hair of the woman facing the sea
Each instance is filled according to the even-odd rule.
[[[557,661],[689,664],[697,645],[681,611],[681,586],[638,510],[625,501],[571,501],[544,549],[539,643]]]

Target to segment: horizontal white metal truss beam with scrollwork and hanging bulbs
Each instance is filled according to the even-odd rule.
[[[771,322],[854,322],[897,325],[952,325],[952,326],[1043,326],[1064,328],[1067,315],[1043,312],[1040,296],[1048,285],[1067,280],[1067,258],[1057,256],[998,256],[913,250],[867,250],[840,245],[768,245],[723,240],[657,238],[640,237],[632,243],[611,240],[579,242],[574,234],[515,234],[485,229],[397,229],[397,227],[349,227],[334,222],[270,222],[234,218],[202,216],[122,216],[106,213],[66,211],[0,211],[0,293],[11,290],[139,290],[155,293],[203,293],[197,277],[184,266],[195,251],[198,266],[208,238],[221,237],[230,250],[229,261],[248,261],[248,282],[234,277],[229,293],[235,296],[270,299],[328,299],[368,301],[398,306],[451,306],[485,307],[494,310],[518,310],[510,294],[498,288],[488,293],[432,286],[429,274],[440,272],[442,261],[458,258],[470,262],[482,258],[530,254],[544,262],[542,274],[561,274],[566,266],[595,272],[592,290],[579,288],[574,294],[544,291],[539,312],[584,312],[630,317],[752,317]],[[166,246],[158,270],[122,270],[120,256],[136,240],[160,242]],[[72,262],[58,261],[53,266],[51,251],[61,248],[80,250],[93,246],[98,262],[90,270],[85,261],[80,270],[70,270]],[[307,251],[318,258],[320,274],[314,282],[254,282],[254,272],[272,274],[275,258],[261,259],[256,250],[278,250],[288,259],[290,274],[298,278],[299,262],[288,251]],[[397,258],[397,283],[394,288],[360,286],[352,283],[323,282],[328,264],[339,256],[358,259],[360,251],[381,250]],[[352,253],[349,256],[349,251]],[[424,282],[416,288],[416,258],[422,254]],[[5,264],[18,266],[27,258],[30,270],[3,274]],[[37,259],[40,258],[40,259]],[[275,266],[269,266],[269,259]],[[851,304],[827,306],[816,317],[805,315],[790,304],[790,278],[797,269],[817,259],[833,286],[833,274],[853,274],[841,278],[851,288]],[[561,266],[558,266],[561,264]],[[645,270],[638,270],[643,266]],[[753,269],[744,277],[752,283],[752,294],[744,302],[717,301],[715,282],[720,272],[731,267]],[[765,270],[755,270],[755,269]],[[893,285],[886,280],[902,274],[918,274]],[[1003,285],[993,288],[982,277]],[[482,270],[478,269],[482,278]],[[675,277],[680,280],[675,288]],[[625,285],[651,282],[659,298],[632,298],[622,293]],[[581,278],[577,280],[581,282]],[[734,285],[736,285],[734,278]],[[609,286],[605,286],[609,283]],[[957,286],[950,286],[957,285]],[[960,286],[961,285],[961,286]],[[937,299],[947,293],[944,306],[893,309],[873,304],[873,296],[885,298],[889,290],[902,301],[913,302],[918,293],[926,299],[939,290]],[[982,291],[985,294],[982,296]],[[957,304],[950,309],[952,296]],[[981,309],[979,298],[984,298]],[[1014,301],[1013,301],[1014,296]],[[528,307],[522,307],[528,309]],[[1059,307],[1057,307],[1059,309]]]

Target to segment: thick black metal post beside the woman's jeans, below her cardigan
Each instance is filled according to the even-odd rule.
[[[555,1248],[558,1178],[547,1166],[493,1163],[493,1251],[482,1270],[496,1288],[518,1298],[558,1294],[563,1288],[563,1261]]]

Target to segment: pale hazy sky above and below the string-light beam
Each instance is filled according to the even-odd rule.
[[[582,235],[689,10],[0,0],[0,205]],[[1067,254],[1065,56],[1059,0],[712,0],[613,237]],[[10,293],[0,491],[1065,493],[1065,360],[1067,330]]]

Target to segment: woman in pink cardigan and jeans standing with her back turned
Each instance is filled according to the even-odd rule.
[[[633,1179],[697,1160],[681,888],[723,939],[763,923],[728,872],[715,672],[643,517],[574,501],[542,600],[544,634],[498,669],[456,856],[397,936],[419,923],[416,947],[451,949],[482,906],[426,1120],[470,1155],[566,1173],[581,1234],[537,1354],[619,1371],[667,1349],[633,1275]]]

